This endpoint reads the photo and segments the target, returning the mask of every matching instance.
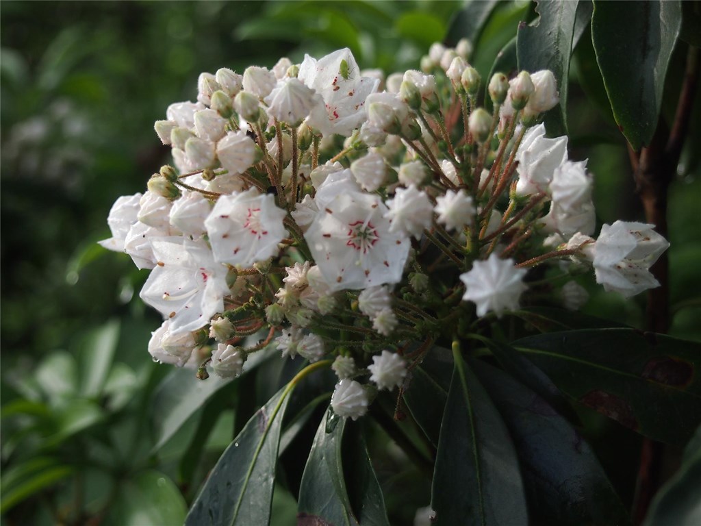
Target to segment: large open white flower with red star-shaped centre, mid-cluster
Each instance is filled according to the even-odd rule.
[[[401,280],[409,240],[389,231],[386,212],[379,196],[359,192],[320,209],[304,238],[332,291]]]

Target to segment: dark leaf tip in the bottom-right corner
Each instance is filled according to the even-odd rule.
[[[684,452],[679,471],[655,495],[643,526],[701,524],[701,427]]]

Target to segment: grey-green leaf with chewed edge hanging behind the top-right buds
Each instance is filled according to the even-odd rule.
[[[550,135],[567,133],[567,81],[577,4],[572,0],[539,1],[536,12],[540,18],[517,32],[519,69],[531,73],[550,69],[557,81],[560,102],[545,116]]]

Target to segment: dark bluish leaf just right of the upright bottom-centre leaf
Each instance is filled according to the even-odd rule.
[[[531,519],[557,525],[629,522],[596,455],[569,422],[505,372],[479,360],[472,365],[515,440]]]

